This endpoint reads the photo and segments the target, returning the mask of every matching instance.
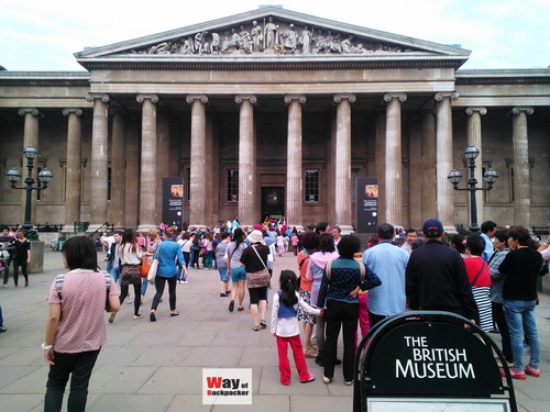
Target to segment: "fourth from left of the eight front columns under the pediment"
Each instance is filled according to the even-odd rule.
[[[254,138],[255,96],[235,96],[239,115],[239,221],[252,227],[260,221],[256,204],[256,149]]]

